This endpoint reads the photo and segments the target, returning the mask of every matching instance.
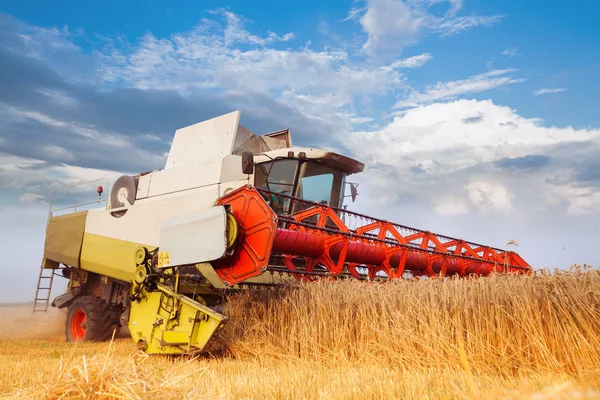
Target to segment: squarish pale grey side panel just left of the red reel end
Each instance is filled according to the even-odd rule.
[[[219,259],[227,250],[225,207],[189,213],[163,221],[160,251],[169,252],[164,267],[197,264]]]

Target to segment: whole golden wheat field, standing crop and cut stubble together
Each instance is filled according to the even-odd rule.
[[[301,284],[228,298],[224,349],[64,342],[64,315],[0,310],[11,399],[600,398],[600,271]]]

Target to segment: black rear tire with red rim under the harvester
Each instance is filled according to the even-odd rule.
[[[87,295],[77,297],[67,313],[67,342],[103,342],[110,339],[113,329],[119,329],[116,316],[115,308],[104,299]]]

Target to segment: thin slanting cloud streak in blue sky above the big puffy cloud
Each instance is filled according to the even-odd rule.
[[[525,79],[510,75],[513,69],[493,70],[467,79],[450,82],[438,82],[427,86],[423,93],[412,91],[407,98],[398,101],[394,108],[416,107],[423,103],[453,99],[467,93],[477,93],[503,85],[524,82]]]

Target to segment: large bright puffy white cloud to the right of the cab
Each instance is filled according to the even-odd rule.
[[[554,176],[594,161],[600,130],[545,127],[489,100],[456,100],[409,109],[381,129],[356,131],[348,136],[348,146],[367,163],[362,182],[385,192],[390,202],[444,198],[433,203],[438,215],[460,215],[467,202],[508,213],[518,202],[537,209],[547,197],[556,197],[549,192],[558,190],[552,189]],[[565,146],[588,151],[572,159],[574,150]],[[571,206],[563,212],[597,212],[596,191],[589,187],[565,189]]]

